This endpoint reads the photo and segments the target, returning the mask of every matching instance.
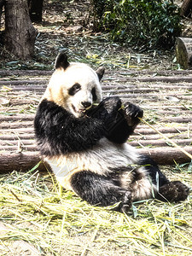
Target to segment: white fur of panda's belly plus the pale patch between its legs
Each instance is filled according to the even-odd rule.
[[[131,185],[132,200],[142,200],[150,198],[152,190],[156,186],[148,179],[148,173],[143,166],[137,166],[139,155],[135,148],[128,144],[115,145],[107,139],[102,139],[94,149],[90,149],[81,153],[67,154],[66,156],[46,158],[51,166],[52,171],[58,183],[65,189],[72,189],[70,179],[75,172],[90,171],[100,175],[107,175],[113,172],[114,168],[122,168],[130,166],[132,172],[141,173],[142,178],[136,182],[132,180],[130,168],[127,172],[122,173],[120,178],[121,186],[128,189]],[[136,171],[137,169],[137,171]]]

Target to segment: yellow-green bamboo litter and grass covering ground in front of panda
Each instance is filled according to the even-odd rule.
[[[178,204],[135,202],[130,212],[113,212],[73,192],[60,196],[54,177],[34,169],[0,177],[0,255],[15,241],[27,241],[39,255],[192,254],[191,197]],[[174,179],[190,185],[189,170],[177,166]]]

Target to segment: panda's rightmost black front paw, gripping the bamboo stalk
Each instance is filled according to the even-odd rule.
[[[138,118],[143,118],[143,110],[136,105],[127,102],[124,105],[124,115],[127,121],[127,125],[135,126],[139,123]]]

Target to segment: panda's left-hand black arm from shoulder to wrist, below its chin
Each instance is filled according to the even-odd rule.
[[[92,148],[105,131],[100,119],[77,119],[54,102],[42,101],[34,120],[36,137],[44,155],[67,154]]]

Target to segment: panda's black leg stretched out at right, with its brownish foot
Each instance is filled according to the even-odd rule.
[[[141,162],[147,170],[152,183],[156,185],[155,198],[160,201],[184,201],[189,195],[189,187],[180,181],[170,182],[166,176],[160,172],[159,167],[148,156],[142,156]]]

